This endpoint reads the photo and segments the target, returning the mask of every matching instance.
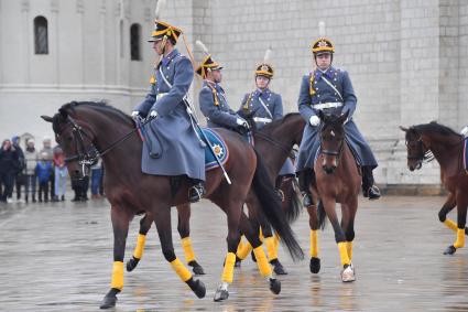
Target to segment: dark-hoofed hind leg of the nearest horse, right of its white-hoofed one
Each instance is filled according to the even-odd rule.
[[[251,226],[249,218],[243,213],[240,219],[240,229],[253,248],[253,254],[257,258],[257,266],[259,267],[261,276],[266,278],[269,281],[270,290],[274,294],[279,294],[281,292],[281,282],[273,276],[273,271],[259,238],[259,230]]]

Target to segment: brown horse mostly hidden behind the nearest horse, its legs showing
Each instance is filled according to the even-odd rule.
[[[249,119],[249,118],[248,118]],[[251,120],[250,125],[254,125]],[[255,141],[255,149],[263,157],[264,163],[269,171],[269,177],[273,182],[284,163],[286,158],[290,155],[294,144],[300,144],[302,140],[302,133],[304,129],[304,120],[298,114],[289,114],[280,121],[275,121],[271,125],[265,126],[261,131],[257,131],[252,127],[253,138]],[[291,224],[295,220],[301,212],[301,204],[297,198],[296,187],[294,186],[295,179],[285,179],[282,183],[282,192],[284,194],[284,201],[282,202],[282,208],[285,213],[286,220]],[[253,201],[253,200],[252,200]],[[261,211],[255,205],[257,203],[247,201],[249,208],[249,219],[253,226],[262,227],[263,241],[266,245],[268,256],[270,263],[273,265],[275,273],[284,273],[284,269],[277,259],[277,239],[273,236],[270,225],[262,216],[257,212]],[[191,218],[191,206],[189,204],[183,204],[177,206],[178,223],[177,230],[181,235],[182,246],[185,254],[187,265],[193,267],[193,271],[196,275],[204,275],[203,267],[198,263],[195,257],[195,252],[192,248],[189,238],[189,218]],[[132,271],[142,258],[145,236],[151,228],[153,220],[151,217],[145,215],[140,220],[139,236],[137,239],[137,246],[133,251],[133,256],[127,262],[127,270]],[[243,260],[248,254],[252,251],[250,244],[241,244],[237,251],[236,266],[240,266],[240,261]],[[253,255],[253,254],[252,254]]]

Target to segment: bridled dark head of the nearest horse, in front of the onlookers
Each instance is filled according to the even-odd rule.
[[[54,117],[41,116],[47,122],[52,122],[55,141],[62,147],[72,180],[80,180],[89,175],[90,168],[99,158],[94,146],[94,133],[83,121],[75,120],[70,116],[76,103],[64,105]],[[78,123],[79,122],[79,123]]]

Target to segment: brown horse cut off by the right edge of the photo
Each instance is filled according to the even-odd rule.
[[[442,206],[438,218],[456,233],[456,240],[444,250],[444,255],[454,255],[465,247],[465,227],[468,206],[468,175],[462,168],[464,137],[450,128],[435,121],[400,127],[405,132],[407,168],[420,170],[424,161],[436,159],[440,165],[440,181],[448,191],[447,200]],[[447,214],[457,207],[457,223],[447,218]]]

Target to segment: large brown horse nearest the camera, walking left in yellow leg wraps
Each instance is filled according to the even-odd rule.
[[[134,215],[140,213],[145,213],[154,219],[162,252],[173,270],[198,298],[204,298],[206,294],[204,283],[194,279],[176,257],[172,243],[171,207],[188,202],[187,177],[142,173],[142,140],[138,135],[135,122],[128,115],[107,104],[73,101],[62,106],[54,117],[42,116],[42,118],[52,122],[55,139],[67,157],[72,179],[83,179],[97,158],[102,158],[106,169],[104,184],[111,204],[113,266],[110,290],[100,308],[115,306],[117,294],[123,288],[123,258],[129,224]],[[228,252],[221,277],[222,283],[215,293],[215,301],[228,298],[228,286],[233,279],[240,232],[254,246],[261,273],[268,279],[270,290],[277,294],[281,291],[281,282],[272,275],[261,248],[258,229],[251,227],[242,213],[247,196],[259,201],[269,223],[286,245],[293,259],[301,259],[303,251],[285,222],[273,185],[265,179],[268,172],[262,159],[239,135],[221,130],[219,133],[229,148],[230,158],[226,162],[226,170],[235,182],[229,185],[224,180],[220,169],[207,172],[206,197],[217,204],[227,214],[228,219]]]

